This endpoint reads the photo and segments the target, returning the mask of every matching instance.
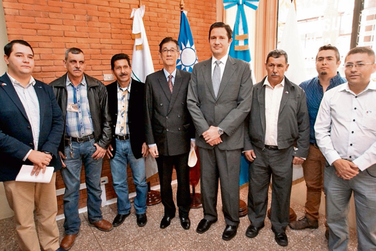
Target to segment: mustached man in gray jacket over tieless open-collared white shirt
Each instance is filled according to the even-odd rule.
[[[269,52],[265,63],[268,76],[253,88],[250,118],[246,119],[249,135],[244,140],[244,154],[252,161],[248,191],[251,224],[246,236],[254,238],[264,227],[271,176],[271,230],[281,246],[288,245],[285,230],[289,224],[293,164],[302,164],[309,148],[306,95],[284,76],[287,62],[285,51]]]

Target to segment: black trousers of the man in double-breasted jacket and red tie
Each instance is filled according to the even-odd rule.
[[[171,179],[175,166],[177,178],[176,201],[180,217],[188,217],[191,206],[191,192],[189,187],[188,152],[173,156],[159,155],[155,158],[158,165],[159,184],[161,185],[161,199],[164,205],[164,214],[174,217],[176,207],[172,197]]]

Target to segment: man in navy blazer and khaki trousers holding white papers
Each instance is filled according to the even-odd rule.
[[[58,146],[64,121],[52,88],[35,80],[34,52],[29,43],[13,40],[4,47],[8,71],[0,78],[0,181],[14,210],[20,250],[47,251],[59,248],[56,173],[50,183],[15,181],[21,166],[33,165],[31,173],[46,166],[61,168]],[[39,240],[34,223],[38,215]],[[40,246],[39,246],[40,243]]]

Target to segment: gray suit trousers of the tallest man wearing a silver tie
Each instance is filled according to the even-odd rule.
[[[227,225],[239,225],[239,175],[241,150],[220,150],[199,148],[200,186],[204,219],[218,218],[217,195],[218,179],[221,185],[221,198],[224,220]]]

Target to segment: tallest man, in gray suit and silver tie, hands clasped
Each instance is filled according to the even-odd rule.
[[[204,233],[218,219],[218,178],[226,228],[230,240],[239,224],[239,175],[244,119],[252,102],[252,78],[247,62],[230,57],[227,49],[232,30],[224,23],[209,29],[212,58],[194,65],[188,89],[188,109],[196,126],[201,161],[201,198],[204,218],[197,233]]]

